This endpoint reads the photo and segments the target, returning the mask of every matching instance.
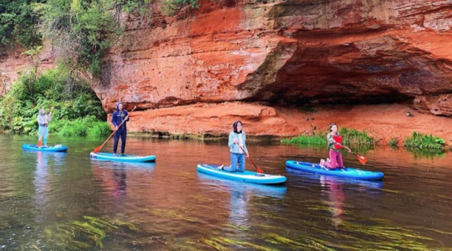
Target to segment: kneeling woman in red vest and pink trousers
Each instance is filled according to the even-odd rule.
[[[329,169],[343,168],[344,163],[342,161],[341,149],[346,149],[349,153],[352,150],[342,145],[342,136],[337,133],[337,124],[331,123],[329,125],[329,134],[326,135],[326,144],[329,148],[329,159],[320,160],[321,167],[327,167]]]

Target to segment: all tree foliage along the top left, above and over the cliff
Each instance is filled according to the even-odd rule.
[[[0,0],[0,47],[19,43],[30,49],[47,39],[60,62],[72,70],[100,76],[101,60],[124,31],[123,13],[148,15],[152,0]],[[198,0],[164,0],[162,11],[175,15]]]

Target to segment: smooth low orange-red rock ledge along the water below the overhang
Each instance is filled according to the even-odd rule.
[[[407,116],[407,112],[410,116]],[[108,115],[108,120],[111,114]],[[163,138],[222,138],[235,120],[242,120],[249,138],[278,141],[326,132],[331,122],[365,131],[377,145],[396,141],[401,146],[413,132],[433,135],[452,144],[451,119],[420,113],[405,104],[336,105],[308,108],[272,107],[262,103],[223,102],[135,111],[128,122],[131,133]]]

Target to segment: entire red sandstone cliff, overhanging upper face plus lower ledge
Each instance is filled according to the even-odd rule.
[[[452,0],[203,1],[176,18],[158,6],[125,17],[92,85],[109,112],[138,106],[133,131],[224,134],[243,119],[251,134],[294,136],[314,117],[383,142],[420,131],[452,143]],[[300,103],[317,112],[284,108]]]

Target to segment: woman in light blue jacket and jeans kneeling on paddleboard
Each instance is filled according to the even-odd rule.
[[[229,134],[229,147],[231,152],[231,166],[221,165],[218,169],[228,172],[245,172],[245,155],[249,157],[246,145],[247,136],[243,132],[242,121],[235,121],[234,131]]]

